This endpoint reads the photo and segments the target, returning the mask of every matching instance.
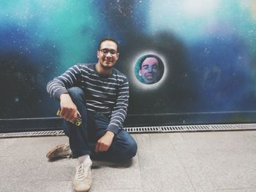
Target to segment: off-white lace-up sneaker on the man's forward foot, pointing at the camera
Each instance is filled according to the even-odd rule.
[[[89,164],[78,164],[73,186],[76,192],[89,191],[91,188],[91,162]]]

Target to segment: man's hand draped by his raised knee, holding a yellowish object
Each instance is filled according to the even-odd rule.
[[[61,114],[60,117],[64,118],[65,120],[75,120],[75,118],[80,115],[78,112],[77,107],[75,106],[74,102],[72,101],[71,97],[68,93],[61,94]]]

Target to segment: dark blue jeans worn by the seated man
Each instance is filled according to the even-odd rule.
[[[106,152],[94,152],[97,140],[105,134],[110,118],[86,109],[86,98],[82,89],[69,88],[69,95],[75,103],[82,118],[82,124],[75,126],[64,120],[64,133],[69,137],[72,157],[90,155],[92,159],[105,161],[126,161],[137,153],[137,143],[127,131],[120,129],[113,137],[113,142]]]

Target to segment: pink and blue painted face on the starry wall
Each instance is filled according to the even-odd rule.
[[[156,58],[146,58],[141,64],[140,75],[146,84],[157,82],[159,64]]]

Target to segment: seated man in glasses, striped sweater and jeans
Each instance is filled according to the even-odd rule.
[[[102,39],[97,64],[72,66],[47,85],[50,96],[60,101],[64,133],[69,137],[72,158],[78,158],[75,191],[89,191],[91,187],[91,158],[125,161],[137,152],[135,140],[122,129],[129,85],[127,77],[113,68],[118,57],[116,40]],[[78,117],[82,124],[75,126],[70,121]],[[68,146],[56,147],[48,157],[68,149]]]

